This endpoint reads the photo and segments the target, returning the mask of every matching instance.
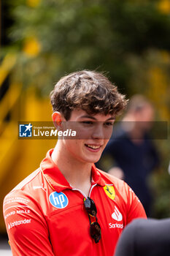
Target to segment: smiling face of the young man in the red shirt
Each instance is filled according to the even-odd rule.
[[[84,110],[73,110],[64,129],[76,130],[77,136],[63,139],[63,151],[80,162],[98,162],[110,136],[115,118],[108,114],[89,115]]]

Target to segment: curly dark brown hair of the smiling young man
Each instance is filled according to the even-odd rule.
[[[127,100],[117,86],[96,71],[82,70],[64,76],[50,93],[53,111],[69,120],[72,110],[82,109],[88,114],[104,113],[117,116]]]

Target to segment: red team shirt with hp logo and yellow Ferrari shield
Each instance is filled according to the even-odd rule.
[[[146,218],[138,197],[124,181],[93,165],[89,196],[96,203],[101,226],[101,240],[96,244],[90,237],[85,195],[66,181],[51,159],[52,152],[4,198],[13,255],[112,256],[125,225]]]

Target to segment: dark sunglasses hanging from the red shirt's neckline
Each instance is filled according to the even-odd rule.
[[[88,213],[88,218],[89,218],[89,221],[90,221],[90,236],[94,239],[95,243],[98,243],[98,241],[101,239],[101,227],[97,222],[96,205],[90,197],[84,198],[84,205],[85,205],[85,210]],[[91,222],[90,216],[91,217],[96,217],[96,222]]]

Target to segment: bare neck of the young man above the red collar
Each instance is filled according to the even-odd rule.
[[[61,149],[57,145],[54,148],[52,159],[69,184],[88,196],[91,186],[92,164],[75,159],[74,156],[64,151],[64,148]]]

